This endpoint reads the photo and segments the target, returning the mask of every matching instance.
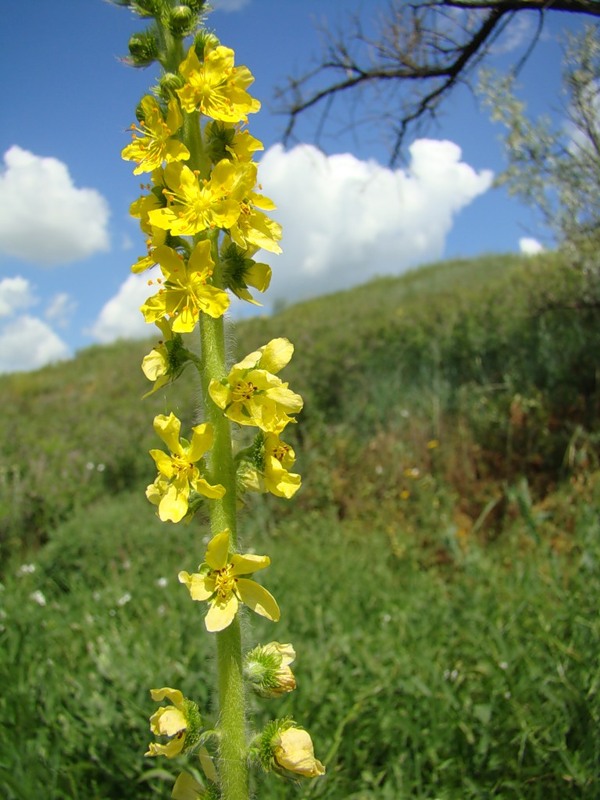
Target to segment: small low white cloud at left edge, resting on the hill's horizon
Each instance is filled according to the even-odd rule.
[[[16,317],[0,329],[0,373],[26,372],[69,357],[66,343],[36,317]]]

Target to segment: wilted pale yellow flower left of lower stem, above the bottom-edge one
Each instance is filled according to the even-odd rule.
[[[174,758],[182,752],[188,752],[200,738],[202,718],[198,706],[188,700],[179,689],[165,686],[162,689],[151,689],[152,699],[160,703],[165,698],[173,705],[161,706],[150,717],[150,730],[155,736],[167,736],[166,744],[151,742],[147,756],[166,756]]]

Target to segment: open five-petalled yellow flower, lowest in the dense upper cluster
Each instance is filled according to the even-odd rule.
[[[146,322],[157,322],[168,315],[174,333],[189,333],[200,312],[214,318],[225,313],[227,293],[207,283],[214,267],[209,241],[198,242],[187,263],[166,245],[156,247],[152,257],[160,264],[165,282],[141,307]]]

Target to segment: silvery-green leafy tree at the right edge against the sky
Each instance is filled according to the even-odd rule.
[[[482,73],[481,91],[493,120],[507,129],[508,168],[498,178],[541,212],[559,244],[597,250],[600,244],[600,40],[596,26],[567,37],[563,104],[558,121],[531,120],[515,94],[514,75]]]

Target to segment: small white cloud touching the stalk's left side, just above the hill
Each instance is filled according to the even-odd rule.
[[[155,267],[143,275],[130,275],[117,294],[105,303],[87,333],[102,344],[116,339],[145,339],[152,336],[156,328],[144,320],[140,306],[152,294],[148,280],[156,270]]]

